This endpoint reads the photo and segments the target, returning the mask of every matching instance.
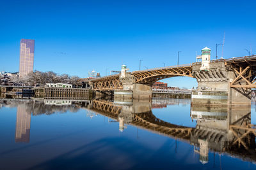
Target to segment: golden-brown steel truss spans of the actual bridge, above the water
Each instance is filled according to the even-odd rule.
[[[217,62],[224,62],[226,68],[234,71],[234,73],[236,74],[236,78],[230,83],[230,87],[256,88],[256,55],[236,57],[231,59],[211,60],[211,64]],[[151,86],[156,81],[175,76],[187,76],[191,78],[196,78],[197,80],[202,80],[204,78],[225,78],[222,73],[218,72],[216,72],[216,74],[202,75],[197,75],[193,73],[193,66],[200,64],[201,62],[195,62],[192,64],[184,64],[179,66],[158,67],[154,69],[146,69],[143,71],[133,71],[130,74],[134,78],[134,83]],[[81,79],[81,81],[83,81],[83,79]],[[246,85],[241,85],[241,81],[245,81]],[[93,80],[90,80],[90,82],[92,83],[94,90],[104,91],[123,89],[122,81],[120,81],[120,74],[95,78]]]

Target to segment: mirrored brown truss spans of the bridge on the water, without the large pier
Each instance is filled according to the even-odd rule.
[[[88,105],[88,109],[116,120],[122,127],[125,127],[124,124],[131,124],[147,131],[188,142],[195,147],[204,145],[206,141],[207,148],[215,152],[225,152],[232,157],[256,162],[256,125],[250,124],[250,113],[229,126],[233,136],[229,140],[225,131],[207,129],[204,125],[196,125],[195,128],[191,128],[170,124],[156,118],[151,110],[144,113],[131,113],[127,112],[121,105],[98,100],[93,100]]]

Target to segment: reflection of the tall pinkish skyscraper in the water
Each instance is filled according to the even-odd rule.
[[[18,105],[16,119],[15,142],[29,142],[31,114],[25,105]]]

